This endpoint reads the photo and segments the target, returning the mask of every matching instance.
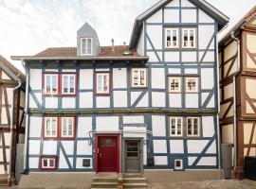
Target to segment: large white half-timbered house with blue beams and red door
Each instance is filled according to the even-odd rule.
[[[217,33],[228,22],[205,1],[164,0],[137,17],[129,46],[101,46],[85,24],[77,47],[12,57],[28,77],[26,169],[218,174]]]

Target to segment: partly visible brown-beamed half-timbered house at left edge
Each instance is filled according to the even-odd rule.
[[[18,79],[21,86],[13,92]],[[16,150],[18,144],[24,144],[25,80],[20,71],[0,56],[0,179],[6,184],[9,174],[9,181],[15,181]]]

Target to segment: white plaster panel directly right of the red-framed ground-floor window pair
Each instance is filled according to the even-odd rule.
[[[92,117],[78,117],[77,137],[89,137],[89,131],[92,130]]]

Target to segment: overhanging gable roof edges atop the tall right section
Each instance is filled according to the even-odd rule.
[[[137,39],[140,34],[143,22],[152,16],[156,11],[161,9],[163,6],[167,5],[168,3],[172,2],[173,0],[161,0],[155,4],[151,9],[147,9],[142,14],[137,16],[134,24],[134,28],[132,31],[132,36],[130,40],[130,48],[135,49],[137,47]],[[204,0],[190,0],[194,5],[198,8],[206,11],[212,18],[214,18],[218,23],[219,31],[229,23],[229,17],[223,14],[218,9],[212,7],[208,2]]]

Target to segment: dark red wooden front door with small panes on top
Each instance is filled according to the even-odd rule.
[[[119,172],[118,136],[98,136],[98,171]]]

